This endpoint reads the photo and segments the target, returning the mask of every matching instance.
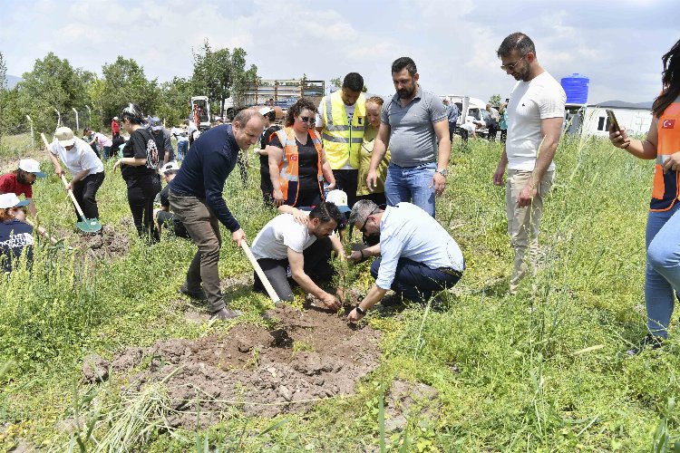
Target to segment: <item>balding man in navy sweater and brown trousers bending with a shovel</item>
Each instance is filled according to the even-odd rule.
[[[257,143],[264,126],[265,119],[257,111],[244,110],[231,124],[202,133],[191,144],[180,172],[170,182],[170,208],[199,246],[180,293],[207,301],[211,319],[227,320],[240,314],[227,308],[219,289],[219,222],[231,231],[231,239],[238,246],[246,233],[229,212],[222,191],[237,163],[239,149],[246,150]]]

